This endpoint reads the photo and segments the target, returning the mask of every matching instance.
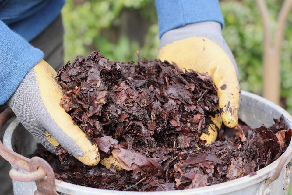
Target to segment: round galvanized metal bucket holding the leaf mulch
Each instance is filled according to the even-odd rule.
[[[252,128],[259,127],[262,124],[266,126],[271,126],[273,124],[273,118],[279,118],[283,115],[288,128],[292,128],[292,117],[283,108],[273,104],[272,102],[245,91],[242,91],[241,101],[239,107],[239,117],[241,120],[245,121]],[[1,118],[1,117],[0,117]],[[1,122],[0,122],[1,126]],[[4,139],[4,145],[12,151],[17,152],[23,156],[28,156],[32,154],[36,148],[37,140],[23,128],[23,126],[14,120],[9,127],[6,129]],[[1,154],[1,148],[0,148]],[[2,153],[3,154],[3,153]],[[2,155],[1,154],[1,155]],[[292,159],[292,143],[285,151],[282,156],[274,161],[267,167],[259,170],[253,176],[245,176],[233,181],[216,184],[212,186],[200,187],[189,190],[175,190],[175,191],[165,191],[165,192],[123,192],[114,190],[101,190],[89,187],[83,187],[78,185],[73,185],[70,183],[65,183],[62,181],[55,180],[55,183],[51,184],[49,190],[55,190],[60,194],[70,194],[70,195],[284,195],[288,193],[288,185],[290,183],[289,176],[291,174],[290,162]],[[27,159],[26,159],[27,160]],[[15,163],[15,162],[14,162]],[[17,164],[17,163],[15,163]],[[17,164],[19,165],[19,164]],[[21,165],[19,165],[21,166]],[[12,168],[16,168],[16,165],[12,164]],[[47,179],[49,179],[49,174],[44,168]],[[21,168],[19,172],[27,172]],[[42,169],[37,169],[36,171],[43,171]],[[11,171],[11,176],[16,174],[16,170]],[[37,180],[38,181],[38,180]],[[38,182],[39,186],[41,186]],[[13,180],[13,190],[15,195],[32,195],[37,189],[35,182],[23,182]],[[53,189],[54,188],[54,189]],[[43,193],[44,194],[44,193]],[[53,193],[55,194],[55,193]]]

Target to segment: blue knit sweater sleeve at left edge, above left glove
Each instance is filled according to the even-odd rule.
[[[44,53],[30,45],[0,20],[0,105],[15,92]]]

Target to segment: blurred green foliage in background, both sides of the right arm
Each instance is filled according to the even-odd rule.
[[[271,27],[276,28],[276,18],[283,0],[266,0],[271,17]],[[241,89],[255,94],[262,92],[262,20],[254,0],[222,0],[220,7],[225,19],[223,36],[232,50],[239,68]],[[123,33],[123,13],[135,12],[141,28],[147,23],[142,40],[132,40],[133,33]],[[67,0],[62,9],[65,24],[65,61],[76,55],[87,55],[100,49],[110,60],[136,60],[135,51],[142,56],[156,58],[159,45],[154,0]],[[134,15],[134,16],[136,16]],[[282,44],[281,96],[286,109],[292,113],[292,17],[288,16]],[[129,15],[128,19],[133,17]],[[127,17],[126,17],[127,19]],[[132,26],[126,23],[126,27]],[[118,32],[118,33],[117,33]],[[138,31],[137,31],[138,33]]]

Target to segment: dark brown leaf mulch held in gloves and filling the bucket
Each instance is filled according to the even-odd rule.
[[[239,122],[217,129],[219,140],[205,145],[199,137],[208,132],[209,116],[219,113],[212,79],[167,61],[142,60],[139,53],[136,65],[93,51],[68,62],[57,78],[64,94],[60,105],[97,144],[101,159],[113,155],[123,168],[89,167],[60,146],[56,155],[39,147],[34,155],[65,182],[131,191],[208,186],[254,174],[290,142],[291,129],[281,116],[269,128],[253,130]]]

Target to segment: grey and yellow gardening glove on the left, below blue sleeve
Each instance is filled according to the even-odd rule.
[[[56,71],[41,60],[27,73],[8,105],[48,151],[55,153],[60,143],[85,165],[97,165],[100,156],[96,145],[59,105],[63,94],[56,75]]]

